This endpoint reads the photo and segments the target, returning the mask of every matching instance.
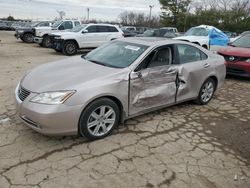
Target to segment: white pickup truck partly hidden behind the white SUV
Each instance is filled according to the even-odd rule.
[[[59,20],[56,21],[52,27],[35,27],[35,37],[34,42],[39,44],[42,47],[48,48],[50,44],[50,37],[49,33],[62,31],[62,30],[69,30],[74,28],[75,26],[80,25],[79,20]]]

